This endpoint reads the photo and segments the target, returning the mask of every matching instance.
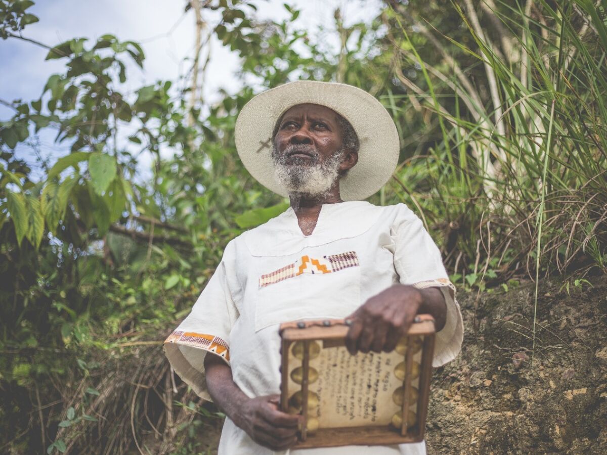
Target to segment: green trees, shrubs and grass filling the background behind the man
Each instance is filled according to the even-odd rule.
[[[28,39],[32,5],[0,0],[2,39]],[[237,95],[205,103],[202,52],[188,88],[124,92],[127,62],[145,56],[105,35],[32,42],[64,70],[40,98],[4,101],[2,453],[205,453],[221,415],[172,373],[161,342],[227,241],[287,207],[243,169],[233,135],[244,104],[287,81],[353,84],[384,104],[401,157],[370,201],[412,207],[460,289],[548,275],[569,287],[607,271],[607,1],[387,1],[348,27],[336,10],[339,53],[288,4],[283,22],[240,0],[183,6],[196,49],[215,35],[240,56]],[[212,28],[209,10],[223,18]],[[70,153],[38,178],[13,150],[35,152],[41,130]],[[141,150],[155,156],[143,182]]]

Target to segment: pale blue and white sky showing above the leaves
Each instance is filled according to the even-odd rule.
[[[259,18],[282,19],[290,14],[282,0],[251,0]],[[291,0],[302,10],[297,24],[308,32],[317,33],[319,27],[334,29],[333,14],[341,8],[345,24],[368,21],[381,7],[380,0]],[[185,13],[186,0],[37,0],[29,12],[39,17],[36,24],[28,25],[23,36],[48,45],[55,45],[75,37],[86,37],[94,42],[99,36],[110,33],[121,40],[133,40],[143,46],[146,60],[144,70],[134,64],[129,67],[130,88],[135,89],[157,80],[177,81],[185,73],[194,48],[194,14]],[[204,19],[210,26],[219,22],[219,15],[204,10]],[[44,61],[46,49],[18,39],[0,41],[0,100],[37,99],[42,87],[53,73],[63,72],[61,59]],[[203,98],[212,102],[218,89],[235,93],[240,88],[234,74],[239,59],[219,41],[211,43],[211,60],[206,73]],[[126,87],[127,89],[129,87]],[[0,104],[0,121],[8,120],[12,110]],[[67,153],[65,146],[53,143],[54,135],[42,134],[39,138],[41,153],[50,158]],[[19,146],[19,158],[36,167],[31,150]],[[147,166],[149,157],[143,159]]]

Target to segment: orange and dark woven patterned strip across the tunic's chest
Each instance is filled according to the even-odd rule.
[[[358,267],[358,256],[354,251],[348,251],[341,254],[323,256],[322,258],[313,258],[304,255],[294,263],[284,266],[269,274],[263,274],[259,277],[259,287],[279,283],[288,278],[297,277],[302,274],[330,274],[348,267]]]

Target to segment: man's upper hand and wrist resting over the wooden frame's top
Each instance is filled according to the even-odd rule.
[[[437,331],[443,328],[446,305],[438,288],[394,285],[371,297],[347,318],[351,320],[346,337],[348,351],[393,351],[421,309],[435,317]]]

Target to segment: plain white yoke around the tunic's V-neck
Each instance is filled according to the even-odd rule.
[[[314,231],[304,235],[293,207],[289,207],[276,218],[245,232],[243,237],[253,256],[286,256],[304,248],[361,235],[376,223],[383,209],[366,201],[324,204]]]

